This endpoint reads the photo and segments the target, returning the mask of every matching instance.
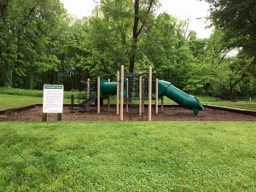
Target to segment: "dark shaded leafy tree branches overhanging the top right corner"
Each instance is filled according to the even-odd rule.
[[[224,32],[224,41],[229,47],[241,48],[256,59],[256,1],[205,1],[210,3],[212,24]]]

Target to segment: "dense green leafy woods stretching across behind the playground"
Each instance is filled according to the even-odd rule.
[[[84,90],[88,78],[115,81],[121,65],[152,66],[154,79],[189,94],[256,96],[256,2],[206,1],[209,38],[197,38],[189,19],[159,14],[158,0],[102,0],[81,19],[59,0],[0,0],[0,86]]]

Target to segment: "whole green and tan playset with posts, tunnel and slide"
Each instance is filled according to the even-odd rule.
[[[143,80],[143,76],[148,78],[148,81]],[[137,79],[137,85],[134,85],[134,79]],[[130,102],[130,119],[131,119],[131,100],[139,100],[139,114],[143,119],[143,100],[148,100],[148,120],[151,120],[152,99],[155,100],[155,113],[158,113],[158,100],[161,98],[161,108],[163,110],[163,96],[177,102],[181,107],[193,110],[196,115],[203,110],[203,106],[196,99],[183,90],[177,89],[171,83],[164,80],[155,80],[152,83],[152,67],[149,67],[148,73],[124,73],[124,67],[121,67],[121,72],[117,73],[117,82],[110,82],[109,79],[97,79],[97,81],[87,80],[87,90],[81,92],[78,96],[79,107],[74,105],[74,96],[72,96],[72,112],[83,110],[95,102],[97,113],[100,113],[100,107],[103,104],[103,99],[109,96],[116,95],[116,113],[120,115],[120,120],[123,120],[124,100],[126,101],[126,112],[128,112],[128,102]],[[154,85],[154,87],[153,87]],[[154,97],[153,97],[154,96]]]

